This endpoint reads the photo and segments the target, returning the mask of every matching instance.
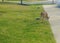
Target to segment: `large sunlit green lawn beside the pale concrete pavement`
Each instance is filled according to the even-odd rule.
[[[55,43],[49,22],[36,20],[42,11],[41,5],[0,4],[0,43]]]

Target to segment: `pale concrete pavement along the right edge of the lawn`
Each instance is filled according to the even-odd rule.
[[[60,43],[60,8],[57,8],[56,5],[43,5],[43,7],[50,17],[49,22],[56,43]]]

